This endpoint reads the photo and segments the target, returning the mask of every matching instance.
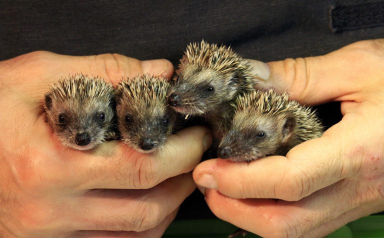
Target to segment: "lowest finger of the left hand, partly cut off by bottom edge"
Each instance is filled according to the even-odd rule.
[[[81,230],[73,232],[69,237],[129,237],[129,238],[146,238],[146,237],[161,237],[165,229],[172,222],[177,214],[177,210],[167,215],[156,227],[147,229],[141,232],[136,231],[98,231],[98,230]]]

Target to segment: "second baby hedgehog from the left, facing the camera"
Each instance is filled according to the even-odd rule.
[[[161,147],[181,124],[167,103],[170,88],[164,77],[144,74],[120,82],[116,89],[116,114],[123,142],[140,152]]]

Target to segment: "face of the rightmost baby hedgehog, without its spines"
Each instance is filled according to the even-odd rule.
[[[217,153],[231,161],[250,161],[277,155],[293,133],[295,121],[287,115],[270,116],[238,111],[232,127],[222,138]],[[285,154],[279,154],[285,155]]]

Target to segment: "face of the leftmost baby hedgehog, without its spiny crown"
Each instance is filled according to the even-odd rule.
[[[45,95],[46,120],[54,134],[69,147],[86,150],[104,141],[112,130],[114,120],[113,99],[110,97],[83,99],[52,99]]]

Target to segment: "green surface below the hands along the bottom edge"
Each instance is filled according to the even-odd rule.
[[[190,219],[173,221],[165,231],[163,238],[223,238],[233,233],[236,226],[219,219]],[[241,237],[241,236],[239,236]],[[244,237],[260,237],[248,233]],[[370,215],[352,221],[333,233],[327,238],[383,238],[384,237],[384,215]]]

